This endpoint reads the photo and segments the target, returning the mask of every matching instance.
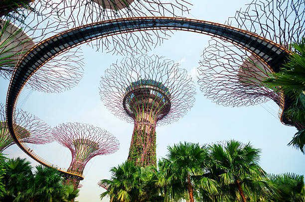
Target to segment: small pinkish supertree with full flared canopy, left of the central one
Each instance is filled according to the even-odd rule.
[[[108,131],[83,123],[63,123],[53,129],[55,140],[70,149],[72,161],[68,172],[78,172],[82,175],[86,164],[97,155],[107,155],[116,152],[120,143]],[[66,184],[72,183],[78,188],[79,179],[67,177]]]

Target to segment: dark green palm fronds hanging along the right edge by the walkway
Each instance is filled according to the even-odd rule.
[[[299,43],[292,44],[295,52],[289,61],[281,68],[279,73],[271,75],[265,82],[267,87],[276,87],[278,91],[284,91],[285,95],[293,101],[285,111],[293,123],[305,124],[305,38]],[[305,128],[298,128],[293,140],[288,144],[300,149],[305,153]]]

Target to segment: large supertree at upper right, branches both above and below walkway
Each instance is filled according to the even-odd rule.
[[[291,50],[290,44],[300,41],[305,35],[305,2],[255,0],[245,9],[237,11],[235,17],[230,17],[228,24],[259,34]],[[261,56],[212,38],[203,51],[203,60],[198,68],[201,91],[218,104],[229,106],[273,100],[280,106],[281,116],[283,94],[263,83],[279,69],[267,66]]]

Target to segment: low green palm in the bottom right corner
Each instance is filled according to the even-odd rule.
[[[270,199],[276,202],[305,202],[304,176],[294,173],[269,175],[274,193]]]

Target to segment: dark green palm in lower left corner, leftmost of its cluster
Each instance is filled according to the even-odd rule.
[[[4,184],[6,194],[3,201],[12,201],[24,192],[28,181],[32,180],[32,167],[25,159],[8,159],[5,163]]]

